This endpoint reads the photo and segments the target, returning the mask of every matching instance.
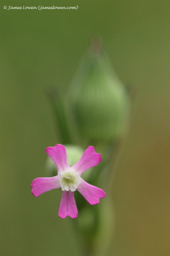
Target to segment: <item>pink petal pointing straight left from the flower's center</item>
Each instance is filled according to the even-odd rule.
[[[55,188],[60,188],[59,184],[59,178],[58,176],[54,177],[48,177],[48,178],[37,178],[34,179],[31,183],[32,187],[32,195],[34,196],[39,196],[46,191],[55,189]]]

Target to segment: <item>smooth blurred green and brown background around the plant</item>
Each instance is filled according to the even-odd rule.
[[[1,1],[1,255],[79,255],[60,192],[34,198],[45,148],[57,143],[45,91],[67,91],[90,39],[101,35],[124,84],[131,85],[131,129],[113,182],[110,255],[170,255],[170,3],[162,0]],[[104,216],[103,216],[104,217]]]

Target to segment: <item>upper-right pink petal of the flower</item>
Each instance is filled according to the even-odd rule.
[[[101,154],[96,153],[94,147],[89,146],[81,156],[81,159],[73,165],[73,169],[81,174],[99,163],[101,163]]]

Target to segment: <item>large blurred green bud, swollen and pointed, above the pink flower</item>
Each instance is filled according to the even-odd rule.
[[[122,136],[129,96],[103,52],[88,52],[67,97],[80,138],[96,143]]]

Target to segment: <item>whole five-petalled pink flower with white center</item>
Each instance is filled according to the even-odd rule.
[[[99,199],[106,196],[103,189],[92,186],[81,178],[83,172],[101,163],[101,154],[96,153],[94,147],[89,146],[81,159],[71,167],[67,164],[66,148],[63,145],[57,144],[55,147],[46,148],[45,151],[56,164],[58,175],[34,179],[31,184],[31,192],[32,195],[39,196],[51,189],[61,188],[60,218],[66,218],[66,216],[76,218],[78,216],[74,200],[74,191],[76,190],[92,205],[99,204]]]

